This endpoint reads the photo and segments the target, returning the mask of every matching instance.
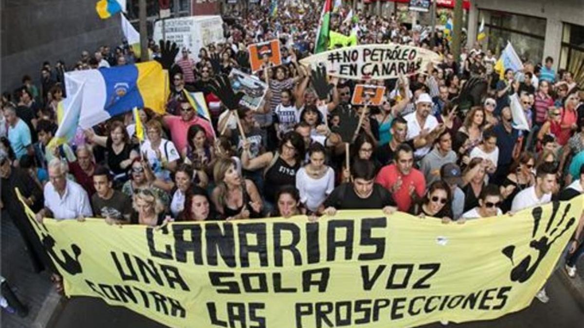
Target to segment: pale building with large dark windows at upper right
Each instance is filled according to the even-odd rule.
[[[472,0],[468,43],[485,21],[483,45],[498,53],[507,40],[534,64],[554,58],[555,69],[568,69],[584,84],[583,0]]]

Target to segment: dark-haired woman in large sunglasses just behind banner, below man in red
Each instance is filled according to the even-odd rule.
[[[450,221],[452,219],[451,203],[452,196],[448,184],[436,181],[430,184],[426,197],[423,197],[420,203],[412,207],[412,215]]]

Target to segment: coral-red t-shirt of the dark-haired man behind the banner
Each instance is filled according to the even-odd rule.
[[[409,172],[409,175],[402,175],[397,166],[391,164],[381,168],[379,173],[377,173],[375,182],[381,184],[381,186],[391,192],[391,187],[394,186],[399,177],[401,177],[402,185],[398,191],[392,193],[391,196],[394,197],[395,204],[398,205],[398,210],[407,212],[412,206],[412,197],[409,196],[409,186],[413,184],[418,197],[422,197],[426,191],[426,180],[424,179],[422,172],[419,170],[412,169]]]

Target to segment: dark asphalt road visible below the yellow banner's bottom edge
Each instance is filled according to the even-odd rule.
[[[483,322],[450,323],[448,327],[464,328],[579,328],[584,327],[584,312],[569,294],[556,273],[548,281],[550,302],[543,304],[535,299],[529,308],[511,313],[496,320]],[[76,297],[70,299],[61,314],[53,320],[52,328],[159,328],[162,324],[117,306],[109,306],[97,298]],[[193,327],[203,327],[193,323]],[[425,328],[442,328],[439,323]]]

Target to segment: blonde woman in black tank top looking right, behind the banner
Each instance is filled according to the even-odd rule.
[[[221,217],[228,220],[262,217],[263,203],[258,189],[251,180],[239,175],[231,158],[218,160],[213,176],[217,187],[211,199]]]

